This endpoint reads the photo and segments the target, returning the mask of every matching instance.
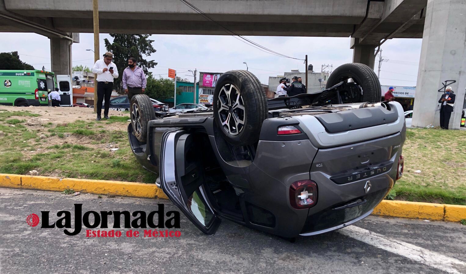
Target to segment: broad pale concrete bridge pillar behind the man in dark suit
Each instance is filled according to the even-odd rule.
[[[466,88],[466,4],[464,0],[428,0],[419,61],[412,126],[439,126],[438,90],[450,84],[456,95],[450,119],[459,129]]]

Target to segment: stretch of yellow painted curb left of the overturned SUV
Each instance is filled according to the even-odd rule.
[[[155,184],[146,183],[0,174],[0,187],[51,191],[73,189],[82,193],[168,199]]]

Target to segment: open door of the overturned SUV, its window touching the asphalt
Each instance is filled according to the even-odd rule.
[[[220,219],[206,195],[199,153],[193,134],[180,129],[164,133],[160,150],[160,185],[194,225],[207,235],[213,235]]]

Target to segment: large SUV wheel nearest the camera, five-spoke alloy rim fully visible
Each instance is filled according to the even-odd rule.
[[[213,93],[213,115],[226,141],[250,145],[258,141],[267,118],[267,98],[259,79],[246,70],[224,73]]]

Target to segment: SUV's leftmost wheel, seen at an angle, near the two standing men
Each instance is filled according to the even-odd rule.
[[[130,103],[131,124],[133,134],[140,142],[147,139],[147,123],[155,119],[154,107],[151,99],[145,94],[137,94],[131,98]]]

